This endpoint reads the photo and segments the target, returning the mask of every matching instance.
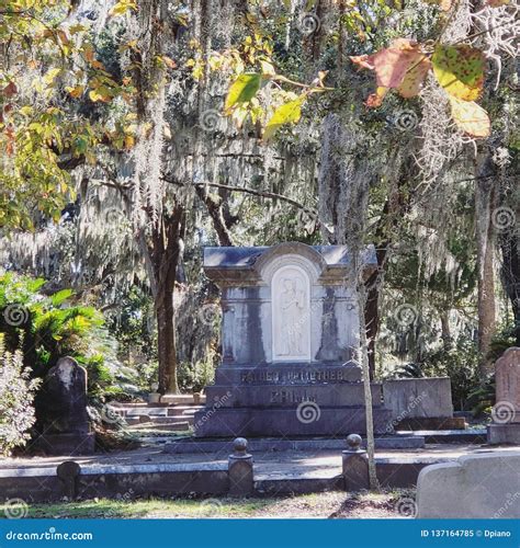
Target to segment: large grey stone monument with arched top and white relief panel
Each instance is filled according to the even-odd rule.
[[[197,436],[365,433],[351,259],[344,246],[204,250],[222,290],[223,357],[195,414]],[[370,275],[374,249],[361,261]],[[388,433],[381,385],[372,393],[375,431]]]

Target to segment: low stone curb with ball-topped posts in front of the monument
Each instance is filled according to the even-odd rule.
[[[292,443],[292,442],[289,442]],[[344,441],[335,441],[344,446]],[[265,496],[313,493],[330,490],[369,489],[366,452],[362,438],[348,437],[342,452],[342,472],[330,476],[319,470],[283,470],[255,473],[248,442],[236,438],[227,463],[79,465],[74,460],[57,468],[10,468],[0,470],[1,499],[23,499],[27,503],[55,502],[64,499],[132,499],[135,496],[231,495]],[[228,444],[227,444],[228,445]],[[338,464],[340,455],[338,454]],[[382,487],[408,488],[417,483],[420,470],[443,458],[376,458]]]

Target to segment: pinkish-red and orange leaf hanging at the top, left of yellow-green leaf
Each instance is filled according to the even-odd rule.
[[[420,52],[419,45],[407,39],[395,39],[389,47],[373,55],[360,55],[350,58],[360,67],[375,71],[377,88],[395,88],[404,98],[419,93],[420,85],[430,70],[428,57]],[[372,94],[369,106],[378,106],[381,92]]]

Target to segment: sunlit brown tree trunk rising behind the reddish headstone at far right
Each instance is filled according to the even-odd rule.
[[[484,379],[493,373],[493,363],[488,359],[489,346],[496,329],[495,305],[495,241],[491,222],[495,207],[494,163],[489,156],[483,160],[475,182],[475,215],[478,264],[478,351],[482,353],[479,365]]]

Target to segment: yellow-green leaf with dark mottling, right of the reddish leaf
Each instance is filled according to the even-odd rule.
[[[484,87],[484,55],[466,45],[437,46],[431,58],[438,82],[463,101],[474,101]]]

